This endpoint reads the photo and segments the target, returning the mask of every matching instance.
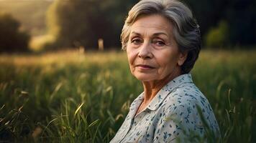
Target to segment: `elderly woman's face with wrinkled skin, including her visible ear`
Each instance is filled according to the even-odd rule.
[[[173,26],[160,15],[139,17],[127,43],[129,67],[142,82],[159,81],[180,68],[186,57],[178,51]]]

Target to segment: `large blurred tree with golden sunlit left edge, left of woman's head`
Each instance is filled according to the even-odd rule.
[[[128,7],[137,1],[56,0],[47,14],[55,47],[96,48],[104,39],[106,48],[120,46],[119,34]]]

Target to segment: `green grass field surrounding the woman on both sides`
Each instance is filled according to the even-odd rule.
[[[221,142],[256,142],[256,51],[202,51]],[[0,56],[0,142],[109,142],[142,84],[124,52]]]

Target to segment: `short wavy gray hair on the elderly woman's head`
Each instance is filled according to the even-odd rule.
[[[187,74],[193,68],[201,50],[201,34],[196,19],[188,6],[176,0],[142,0],[129,11],[122,29],[122,49],[127,48],[132,24],[139,16],[159,14],[170,21],[173,36],[180,52],[187,52],[186,61],[181,66],[181,73]]]

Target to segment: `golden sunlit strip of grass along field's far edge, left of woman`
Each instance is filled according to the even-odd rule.
[[[121,50],[120,50],[121,51]],[[93,52],[93,51],[79,51],[79,50],[65,50],[49,52],[47,54],[36,54],[36,55],[19,55],[4,54],[0,56],[1,64],[14,64],[14,66],[47,66],[50,64],[81,64],[83,63],[99,63],[103,64],[111,62],[116,59],[126,61],[124,52],[116,51],[108,52]]]

